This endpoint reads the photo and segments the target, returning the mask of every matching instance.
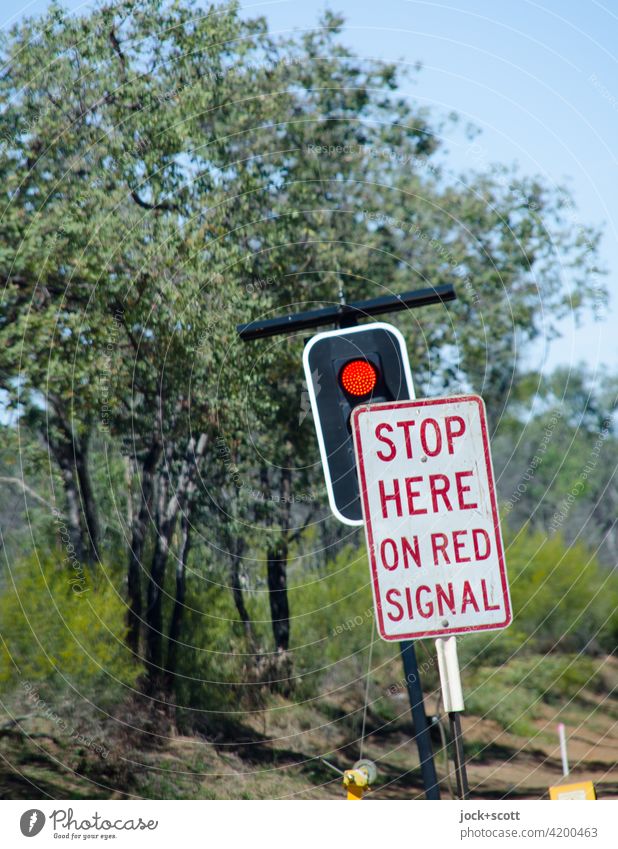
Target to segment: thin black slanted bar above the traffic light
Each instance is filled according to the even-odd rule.
[[[264,339],[267,336],[278,336],[281,333],[294,333],[297,330],[308,330],[321,327],[323,324],[355,324],[356,319],[370,315],[383,315],[387,312],[426,307],[429,304],[441,304],[454,301],[457,295],[451,283],[432,286],[427,289],[416,289],[404,292],[402,295],[383,295],[368,301],[356,301],[351,304],[340,304],[324,307],[309,312],[290,313],[289,315],[268,318],[264,321],[252,321],[249,324],[239,324],[236,327],[238,335],[245,342],[254,339]]]

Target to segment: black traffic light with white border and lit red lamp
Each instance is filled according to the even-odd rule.
[[[362,525],[350,417],[359,404],[414,398],[405,340],[383,323],[318,333],[303,365],[331,509]]]

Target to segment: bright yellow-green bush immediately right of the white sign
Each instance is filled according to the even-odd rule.
[[[559,535],[523,529],[507,539],[513,624],[461,639],[459,655],[466,709],[530,735],[543,705],[600,685],[590,654],[618,646],[618,575]]]

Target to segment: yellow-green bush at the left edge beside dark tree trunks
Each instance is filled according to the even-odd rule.
[[[0,593],[0,684],[74,688],[106,703],[135,684],[118,587],[76,573],[61,552],[24,558]]]

